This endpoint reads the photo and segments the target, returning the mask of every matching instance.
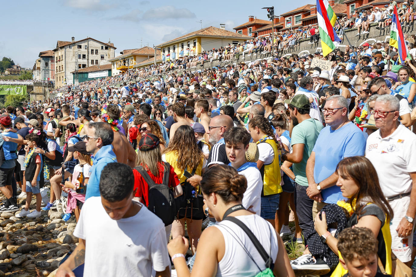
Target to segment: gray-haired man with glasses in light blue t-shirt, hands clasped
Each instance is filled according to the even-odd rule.
[[[363,132],[348,120],[348,102],[343,96],[334,95],[327,99],[324,108],[325,123],[306,165],[309,187],[307,194],[315,199],[312,216],[326,204],[343,200],[341,189],[335,184],[337,164],[345,157],[364,156],[366,141]],[[316,201],[318,200],[318,201]]]

